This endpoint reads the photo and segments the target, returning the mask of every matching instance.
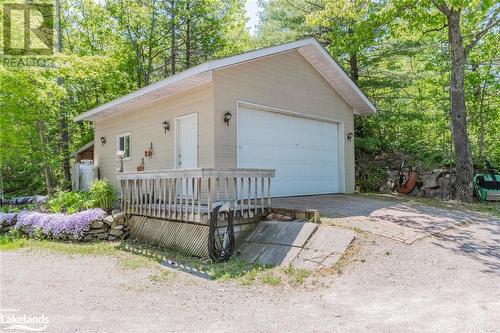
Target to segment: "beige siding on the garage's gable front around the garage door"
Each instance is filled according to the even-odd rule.
[[[297,51],[232,66],[214,73],[215,151],[217,167],[236,167],[236,103],[238,100],[342,123],[345,137],[353,132],[352,107]],[[233,114],[231,125],[224,114]],[[345,190],[354,191],[354,142],[344,140]]]

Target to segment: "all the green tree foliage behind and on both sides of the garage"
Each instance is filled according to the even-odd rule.
[[[485,18],[498,14],[490,0],[442,2],[462,8],[466,44],[485,27]],[[61,148],[61,120],[67,123],[69,151],[75,151],[93,138],[92,124],[71,121],[77,114],[210,59],[311,36],[377,106],[376,116],[355,121],[357,153],[371,155],[367,161],[397,153],[425,168],[454,163],[448,38],[444,16],[433,2],[259,3],[261,21],[256,36],[250,36],[244,0],[62,1],[63,52],[52,57],[56,66],[0,64],[4,192],[66,189],[61,166],[68,152]],[[488,157],[498,166],[498,29],[472,49],[465,79],[474,165],[482,169]],[[368,168],[375,175],[361,171],[363,183],[375,188],[379,167]],[[99,205],[109,205],[105,201]],[[67,209],[63,204],[54,202],[54,209]]]

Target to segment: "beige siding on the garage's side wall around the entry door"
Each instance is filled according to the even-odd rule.
[[[116,140],[122,133],[131,134],[131,158],[123,162],[125,171],[135,171],[144,157],[144,151],[153,143],[153,156],[144,157],[145,170],[174,168],[175,118],[190,113],[198,114],[198,164],[213,167],[213,86],[211,84],[115,117],[95,123],[95,159],[101,178],[116,180]],[[168,121],[170,131],[165,134],[162,122]],[[101,136],[106,144],[101,145]]]

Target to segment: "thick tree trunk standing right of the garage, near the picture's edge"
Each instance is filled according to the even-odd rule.
[[[467,133],[467,110],[465,106],[464,77],[465,52],[460,31],[460,11],[450,9],[448,19],[448,41],[451,56],[451,125],[455,144],[456,197],[460,201],[472,201],[472,178],[474,169]]]

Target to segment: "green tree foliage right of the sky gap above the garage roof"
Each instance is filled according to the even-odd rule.
[[[390,159],[381,159],[385,155],[396,163],[404,157],[423,169],[454,164],[448,35],[433,2],[262,3],[257,44],[316,37],[377,106],[376,116],[355,119],[359,189],[376,189],[385,169],[394,170]],[[499,6],[492,1],[437,3],[462,8],[465,44],[488,18],[498,17]],[[500,165],[497,62],[498,29],[493,29],[472,49],[466,66],[469,141],[479,169],[484,157]]]

